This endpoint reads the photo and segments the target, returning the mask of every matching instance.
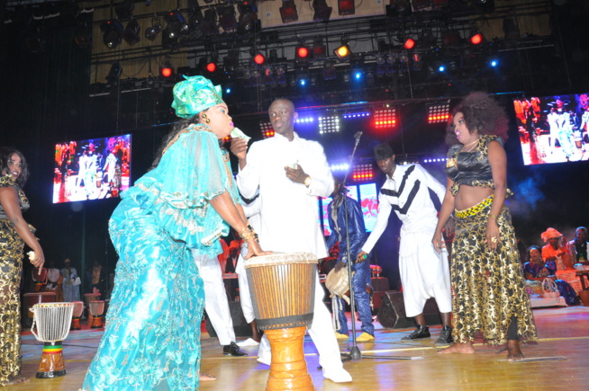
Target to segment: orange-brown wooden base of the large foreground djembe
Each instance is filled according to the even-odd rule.
[[[267,391],[315,389],[307,370],[307,361],[304,360],[303,343],[306,329],[306,326],[300,326],[264,331],[272,350]]]

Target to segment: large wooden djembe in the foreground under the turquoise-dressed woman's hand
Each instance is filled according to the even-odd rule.
[[[314,389],[303,344],[313,322],[316,264],[312,253],[274,253],[244,263],[256,323],[272,350],[267,390]]]

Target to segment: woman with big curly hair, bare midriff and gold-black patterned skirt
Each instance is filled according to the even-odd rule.
[[[440,353],[474,353],[475,333],[496,346],[507,343],[507,359],[521,360],[520,339],[538,340],[525,291],[512,218],[505,206],[507,118],[485,93],[471,93],[449,121],[448,185],[432,244],[452,212],[454,344]]]

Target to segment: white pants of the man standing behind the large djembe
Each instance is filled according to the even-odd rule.
[[[313,323],[309,327],[309,335],[315,344],[315,348],[319,352],[319,365],[323,370],[329,372],[331,370],[343,369],[340,356],[340,346],[338,340],[335,338],[335,332],[331,325],[330,311],[323,303],[323,296],[325,291],[319,281],[319,273],[315,273],[315,303],[313,306]],[[268,342],[266,334],[262,337],[259,343],[258,357],[262,360],[270,361],[272,352],[270,351],[270,342]]]

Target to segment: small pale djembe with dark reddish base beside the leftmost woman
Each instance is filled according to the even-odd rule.
[[[68,337],[73,311],[74,303],[44,303],[32,307],[31,333],[37,341],[45,342],[37,378],[59,378],[66,374],[61,342]]]

